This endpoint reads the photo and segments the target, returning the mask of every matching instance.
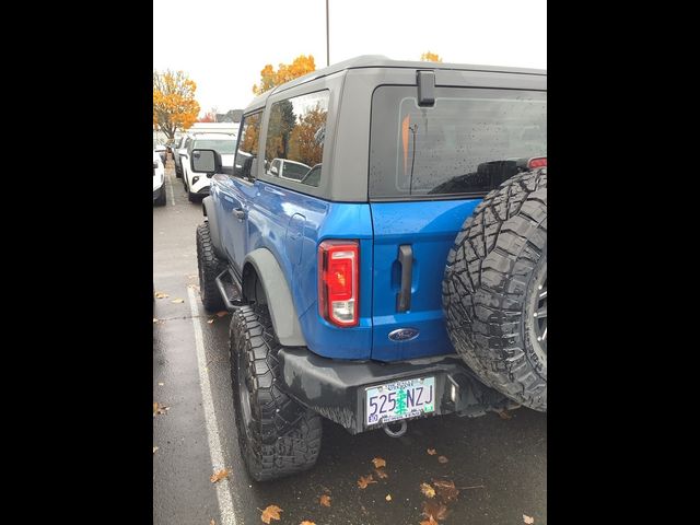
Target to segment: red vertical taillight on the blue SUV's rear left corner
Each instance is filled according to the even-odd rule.
[[[318,312],[336,326],[357,326],[360,319],[357,241],[324,241],[318,245]]]

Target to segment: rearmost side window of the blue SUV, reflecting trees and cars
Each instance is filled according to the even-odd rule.
[[[318,186],[329,97],[326,90],[272,104],[265,145],[268,175]]]

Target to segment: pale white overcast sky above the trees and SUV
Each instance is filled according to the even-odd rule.
[[[330,63],[358,55],[547,68],[546,0],[328,0]],[[326,0],[153,0],[153,69],[197,82],[202,113],[242,109],[266,63],[326,66]]]

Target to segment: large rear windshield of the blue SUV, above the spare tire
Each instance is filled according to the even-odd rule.
[[[547,156],[547,93],[438,88],[419,107],[416,86],[383,85],[372,96],[370,198],[482,196]]]

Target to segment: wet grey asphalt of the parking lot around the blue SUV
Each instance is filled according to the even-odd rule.
[[[195,229],[201,205],[190,203],[166,166],[167,205],[153,208],[153,401],[168,407],[153,418],[153,523],[155,525],[259,524],[268,505],[282,509],[281,521],[322,524],[416,524],[424,501],[422,482],[454,481],[460,489],[446,503],[445,524],[547,523],[547,416],[528,409],[510,419],[489,413],[409,423],[399,439],[382,431],[350,435],[324,421],[318,463],[307,472],[257,483],[243,465],[233,420],[228,339],[230,315],[212,318],[199,301]],[[174,197],[174,199],[173,199]],[[195,299],[194,313],[192,301]],[[184,302],[174,302],[184,300]],[[201,345],[197,347],[197,330]],[[202,388],[206,385],[206,388]],[[219,451],[211,450],[218,434]],[[435,455],[427,450],[434,448]],[[439,456],[447,463],[441,464]],[[386,460],[384,479],[360,489],[357,480]],[[210,481],[212,462],[230,477]],[[376,479],[376,474],[374,475]],[[330,508],[319,504],[330,495]],[[390,499],[387,500],[387,495]]]

